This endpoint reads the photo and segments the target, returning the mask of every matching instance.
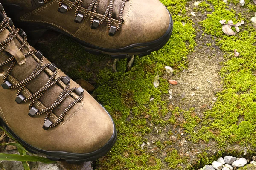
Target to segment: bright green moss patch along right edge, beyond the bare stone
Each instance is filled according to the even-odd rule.
[[[224,3],[218,0],[208,0],[214,5],[215,11],[207,15],[201,22],[204,31],[216,39],[217,45],[227,53],[227,61],[222,63],[220,75],[223,91],[216,96],[218,100],[211,110],[204,113],[201,124],[195,133],[191,130],[192,141],[208,142],[214,139],[219,146],[234,143],[255,145],[255,81],[253,73],[256,71],[256,33],[255,29],[241,27],[236,36],[227,36],[222,32],[220,20],[241,19],[241,13],[236,16],[235,11],[227,10]],[[233,2],[232,3],[236,3]],[[234,57],[234,50],[240,53]],[[195,129],[195,128],[193,128]]]

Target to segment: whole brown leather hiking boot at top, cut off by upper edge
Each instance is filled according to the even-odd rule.
[[[57,30],[93,54],[149,55],[172,34],[169,11],[158,0],[1,0],[23,25]],[[22,26],[23,27],[23,26]]]

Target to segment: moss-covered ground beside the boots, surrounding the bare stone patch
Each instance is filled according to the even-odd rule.
[[[37,45],[73,79],[83,78],[96,86],[93,96],[116,123],[116,145],[97,161],[96,169],[198,168],[227,152],[237,154],[244,146],[251,150],[256,147],[256,30],[250,23],[256,11],[253,1],[246,0],[244,7],[236,0],[227,4],[222,0],[205,0],[197,7],[189,0],[161,2],[174,19],[172,37],[158,52],[136,57],[129,72],[125,72],[126,60],[119,61],[118,72],[113,72],[113,59],[109,56],[88,54],[63,35],[51,42],[41,40]],[[200,23],[189,15],[192,10],[200,14]],[[222,19],[234,23],[244,20],[247,24],[235,36],[227,36],[221,30]],[[200,25],[201,30],[195,29],[195,25]],[[202,37],[209,37],[212,42],[197,46],[200,31],[204,32],[200,33]],[[172,104],[168,94],[172,86],[167,81],[171,75],[164,68],[171,66],[174,74],[182,74],[189,66],[188,55],[201,46],[209,50],[218,46],[226,60],[219,72],[223,90],[216,94],[212,109],[203,115],[192,107],[181,109]],[[239,57],[234,57],[234,49],[240,52]],[[153,81],[157,75],[160,86],[155,88]],[[143,142],[146,145],[142,149]],[[235,149],[227,151],[227,147]],[[235,152],[237,148],[239,152]]]

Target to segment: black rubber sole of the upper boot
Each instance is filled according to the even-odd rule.
[[[14,5],[14,4],[8,4],[6,6],[9,8],[15,7],[17,10],[22,10],[22,8],[18,9],[17,5]],[[166,10],[168,11],[167,8],[166,8]],[[12,16],[13,13],[9,12],[8,15]],[[143,57],[145,55],[150,55],[151,52],[161,49],[168,42],[168,40],[170,39],[170,37],[172,35],[173,20],[172,20],[172,16],[171,16],[170,12],[169,12],[169,18],[170,18],[169,27],[168,27],[166,33],[159,39],[154,40],[152,42],[148,42],[148,43],[132,44],[130,46],[126,46],[124,48],[119,48],[119,49],[107,49],[107,48],[102,48],[99,46],[94,46],[90,43],[86,43],[82,40],[79,40],[78,38],[73,37],[72,35],[68,34],[67,32],[64,32],[64,31],[58,29],[57,27],[54,27],[47,23],[15,21],[15,24],[22,27],[26,31],[37,30],[37,29],[38,30],[40,30],[40,29],[55,30],[57,32],[60,32],[64,35],[67,35],[68,37],[71,37],[72,39],[76,40],[79,44],[81,44],[81,46],[84,46],[84,49],[87,52],[90,52],[95,55],[108,54],[108,55],[111,55],[113,58],[126,58],[127,56],[132,56],[132,55],[139,55],[140,57]],[[32,37],[34,37],[34,36],[32,36]]]

